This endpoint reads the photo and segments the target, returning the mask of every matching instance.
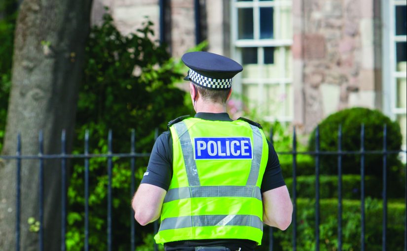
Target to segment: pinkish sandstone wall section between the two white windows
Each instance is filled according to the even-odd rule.
[[[309,132],[343,108],[381,108],[379,0],[294,0],[295,123]]]

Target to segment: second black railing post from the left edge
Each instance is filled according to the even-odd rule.
[[[38,144],[39,144],[39,172],[38,172],[38,181],[39,181],[39,196],[38,196],[38,207],[39,207],[39,233],[38,233],[38,243],[39,243],[39,251],[44,250],[44,213],[43,213],[43,206],[44,206],[44,159],[42,155],[44,154],[44,143],[43,143],[43,133],[42,130],[39,131],[38,135]]]

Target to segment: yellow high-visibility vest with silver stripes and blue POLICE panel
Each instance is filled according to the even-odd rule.
[[[170,130],[173,177],[155,241],[248,239],[260,245],[260,185],[268,159],[263,131],[242,120],[198,118]]]

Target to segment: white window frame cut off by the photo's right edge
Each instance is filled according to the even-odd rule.
[[[396,43],[406,42],[406,35],[396,35],[395,7],[406,5],[406,0],[382,0],[383,17],[383,111],[392,120],[406,115],[406,108],[397,107],[397,80],[406,78],[406,72],[397,71]],[[406,145],[402,146],[406,150]]]

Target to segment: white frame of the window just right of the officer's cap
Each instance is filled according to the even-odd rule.
[[[272,1],[259,1],[259,0],[253,0],[253,1],[237,1],[237,0],[232,0],[231,1],[231,41],[232,41],[232,46],[231,46],[231,55],[232,57],[238,61],[239,63],[241,62],[241,50],[240,48],[244,47],[257,47],[258,48],[258,65],[259,65],[259,72],[260,76],[259,78],[242,78],[241,74],[238,74],[237,78],[235,79],[237,85],[234,86],[234,90],[242,94],[243,93],[243,85],[244,84],[256,84],[259,86],[258,92],[259,92],[259,104],[264,103],[264,87],[265,85],[279,85],[280,87],[280,92],[282,94],[287,95],[287,85],[291,85],[293,88],[293,77],[283,77],[283,78],[265,78],[261,76],[262,67],[264,67],[264,47],[275,47],[276,49],[279,48],[279,62],[281,64],[279,65],[279,72],[281,72],[281,76],[286,76],[286,52],[287,50],[290,50],[291,45],[293,44],[293,39],[260,39],[260,24],[259,24],[259,7],[273,7],[274,11],[274,34],[277,34],[277,37],[281,34],[281,29],[280,29],[280,8],[274,8],[277,6],[290,6],[292,7],[292,0],[272,0]],[[254,18],[254,38],[253,39],[238,39],[238,9],[239,8],[253,8],[254,13],[253,13],[253,18]],[[276,35],[274,35],[276,36]],[[292,91],[290,100],[293,103],[294,102],[294,90]],[[284,102],[284,111],[287,108],[287,102]],[[293,104],[291,104],[292,110],[294,110]],[[266,116],[263,119],[265,121],[274,121],[278,120],[280,122],[292,122],[294,117],[294,111],[291,111],[291,116]]]

